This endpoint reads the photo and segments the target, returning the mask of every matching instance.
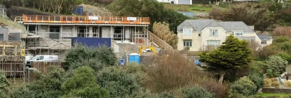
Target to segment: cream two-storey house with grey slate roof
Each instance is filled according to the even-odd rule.
[[[254,40],[262,46],[273,41],[265,34],[256,34],[253,26],[247,26],[242,21],[185,20],[177,27],[177,48],[190,47],[190,51],[199,51],[203,46],[221,45],[230,34],[239,40]]]

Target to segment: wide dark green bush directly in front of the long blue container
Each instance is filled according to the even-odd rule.
[[[91,60],[90,60],[91,59]],[[110,66],[115,65],[116,63],[116,55],[113,52],[111,48],[108,48],[107,46],[99,46],[98,48],[94,49],[91,47],[86,47],[82,45],[78,45],[72,49],[70,49],[66,55],[65,55],[65,61],[68,63],[68,65],[64,65],[65,69],[76,68],[81,65],[76,65],[76,63],[81,64],[92,64],[93,60],[96,60],[97,64],[90,65],[92,68],[97,68],[94,70],[99,70],[99,68],[102,68],[103,64],[104,66]],[[100,64],[100,63],[101,64]],[[75,66],[75,67],[74,67]]]

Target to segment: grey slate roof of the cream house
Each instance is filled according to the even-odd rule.
[[[232,30],[243,30],[244,32],[254,32],[249,26],[247,26],[242,21],[215,21],[212,19],[202,19],[202,20],[185,20],[178,27],[177,31],[183,31],[183,27],[186,24],[191,24],[194,28],[193,31],[202,31],[205,27],[222,27],[226,32],[231,32]],[[189,26],[189,25],[187,25]]]

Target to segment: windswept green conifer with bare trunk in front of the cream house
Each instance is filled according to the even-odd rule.
[[[218,49],[214,49],[209,53],[200,52],[199,61],[217,68],[221,74],[219,82],[222,84],[226,71],[236,71],[246,68],[248,62],[252,61],[252,52],[247,46],[248,42],[245,40],[238,40],[231,34]],[[233,76],[235,76],[235,74]]]

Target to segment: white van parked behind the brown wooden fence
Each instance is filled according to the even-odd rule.
[[[26,66],[31,67],[31,62],[58,62],[58,55],[35,55],[25,61]]]

